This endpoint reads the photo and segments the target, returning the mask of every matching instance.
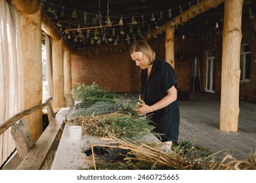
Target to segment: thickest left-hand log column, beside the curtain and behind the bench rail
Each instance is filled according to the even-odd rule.
[[[24,61],[25,96],[24,108],[42,103],[42,42],[41,11],[22,13],[22,52]],[[26,116],[30,124],[33,141],[43,132],[42,110]]]

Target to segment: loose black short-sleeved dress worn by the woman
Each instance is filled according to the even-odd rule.
[[[146,105],[154,105],[167,95],[167,90],[172,86],[177,88],[177,82],[173,67],[158,57],[154,60],[148,81],[147,70],[141,71],[140,97]],[[153,122],[151,125],[156,126],[154,131],[164,134],[161,135],[160,141],[178,142],[180,114],[177,100],[147,115]]]

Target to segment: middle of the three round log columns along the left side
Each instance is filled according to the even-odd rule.
[[[53,40],[53,107],[64,107],[63,38]]]

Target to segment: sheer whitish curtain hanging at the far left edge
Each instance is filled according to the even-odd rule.
[[[24,110],[21,14],[0,0],[0,124]],[[15,148],[11,128],[0,135],[0,166]]]

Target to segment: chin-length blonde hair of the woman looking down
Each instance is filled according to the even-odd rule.
[[[156,53],[152,50],[152,48],[145,41],[136,41],[133,43],[130,49],[130,55],[134,52],[142,52],[148,56],[148,66],[152,65],[154,59],[156,58]]]

